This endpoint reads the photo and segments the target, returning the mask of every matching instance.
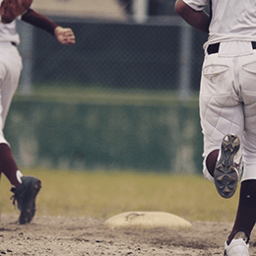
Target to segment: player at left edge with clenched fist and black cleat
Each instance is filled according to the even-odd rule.
[[[1,2],[2,0],[0,0]],[[31,8],[18,19],[51,33],[62,44],[75,43],[75,35],[71,29],[57,26]],[[0,174],[3,172],[12,185],[13,203],[15,204],[17,201],[21,211],[19,224],[29,224],[35,213],[35,197],[41,187],[41,182],[36,177],[22,174],[3,133],[9,107],[18,88],[23,67],[17,49],[19,43],[16,20],[8,22],[8,24],[0,23]]]

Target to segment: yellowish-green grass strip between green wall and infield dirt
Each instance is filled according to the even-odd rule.
[[[132,171],[56,171],[23,169],[42,181],[36,215],[110,218],[129,211],[167,212],[192,222],[233,222],[238,192],[222,199],[213,183],[201,176],[135,173]],[[2,176],[1,213],[17,213]]]

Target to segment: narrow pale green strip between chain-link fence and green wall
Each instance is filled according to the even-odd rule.
[[[29,100],[53,100],[65,102],[83,102],[97,104],[132,104],[132,105],[173,105],[179,103],[176,91],[116,90],[99,87],[58,85],[32,88],[30,96],[18,91],[15,99],[28,97]],[[198,94],[186,101],[190,106],[198,106]]]

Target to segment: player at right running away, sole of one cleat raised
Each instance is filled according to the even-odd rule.
[[[208,4],[210,16],[204,11]],[[229,198],[243,169],[224,255],[248,256],[256,221],[256,0],[177,0],[175,11],[209,33],[199,99],[203,171]]]

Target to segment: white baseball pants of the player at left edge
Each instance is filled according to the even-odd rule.
[[[3,129],[22,68],[22,58],[17,47],[11,42],[0,42],[0,143],[8,144]]]

